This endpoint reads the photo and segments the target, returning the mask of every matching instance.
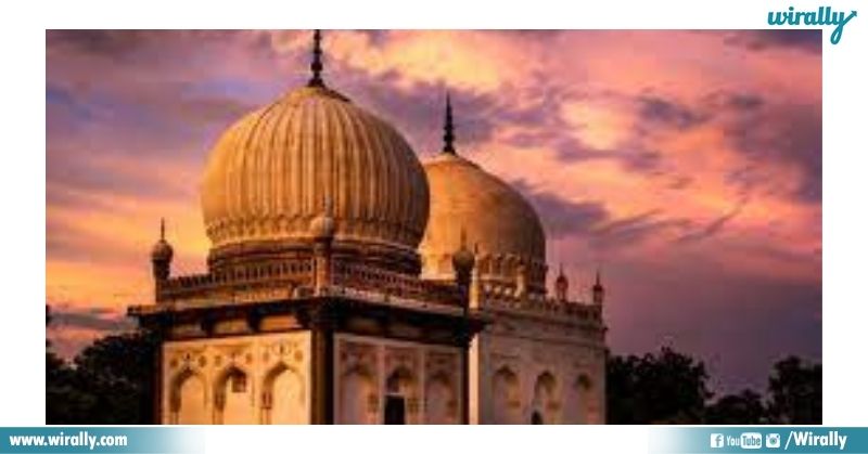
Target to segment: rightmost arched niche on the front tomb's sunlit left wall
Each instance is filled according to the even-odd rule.
[[[263,423],[305,424],[305,387],[298,371],[279,363],[263,379]]]

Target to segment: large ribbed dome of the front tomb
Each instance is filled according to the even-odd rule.
[[[202,182],[215,248],[305,241],[327,199],[335,243],[412,251],[427,219],[427,183],[407,141],[322,86],[294,90],[231,126]]]

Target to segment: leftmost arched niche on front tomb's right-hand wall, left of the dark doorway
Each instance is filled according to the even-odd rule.
[[[379,407],[376,385],[367,367],[356,366],[341,376],[337,420],[341,424],[374,424]]]

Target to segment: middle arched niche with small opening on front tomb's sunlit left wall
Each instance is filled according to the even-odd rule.
[[[256,424],[253,380],[232,365],[217,376],[214,386],[216,424]]]

